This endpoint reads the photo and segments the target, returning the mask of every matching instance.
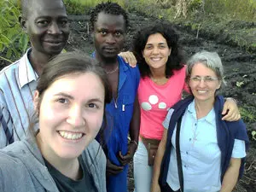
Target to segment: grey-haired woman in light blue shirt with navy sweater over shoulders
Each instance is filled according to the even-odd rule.
[[[242,120],[222,120],[224,97],[218,96],[218,90],[225,82],[218,54],[193,55],[186,81],[193,96],[173,106],[163,122],[166,130],[154,163],[151,191],[232,191],[242,174],[248,137]]]

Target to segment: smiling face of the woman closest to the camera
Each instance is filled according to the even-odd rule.
[[[62,76],[44,91],[37,140],[46,159],[74,159],[82,154],[101,128],[104,94],[95,73]]]

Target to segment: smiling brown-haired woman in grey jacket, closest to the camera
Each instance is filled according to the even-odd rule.
[[[49,61],[34,94],[38,122],[26,140],[0,150],[0,191],[106,191],[106,157],[95,137],[108,90],[106,73],[88,56]]]

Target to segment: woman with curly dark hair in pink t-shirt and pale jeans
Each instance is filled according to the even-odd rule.
[[[141,80],[138,100],[141,107],[140,139],[134,155],[136,192],[150,191],[154,156],[163,135],[162,122],[169,108],[181,100],[185,84],[185,68],[178,35],[170,23],[161,21],[137,32],[133,53],[136,55]],[[235,102],[225,103],[226,120],[240,114]]]

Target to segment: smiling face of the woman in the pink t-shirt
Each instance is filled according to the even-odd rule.
[[[166,71],[166,62],[171,54],[166,38],[160,33],[148,37],[148,42],[143,49],[143,57],[151,70],[163,69]]]

